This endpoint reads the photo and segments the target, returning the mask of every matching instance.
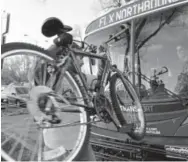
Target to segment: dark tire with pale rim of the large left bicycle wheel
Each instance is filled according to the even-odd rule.
[[[54,60],[55,56],[52,55],[51,53],[49,53],[47,50],[38,47],[36,45],[32,45],[32,44],[28,44],[28,43],[18,43],[18,42],[13,42],[13,43],[7,43],[4,45],[1,45],[1,62],[3,60],[3,58],[8,57],[9,55],[13,55],[14,53],[18,52],[18,51],[30,51],[30,52],[35,52],[35,54],[39,54],[41,56],[44,56],[50,60]],[[12,54],[10,54],[12,52]],[[67,76],[70,77],[70,79],[73,81],[73,83],[75,83],[75,86],[78,88],[79,93],[81,93],[82,97],[85,98],[86,92],[85,89],[83,88],[83,86],[81,86],[82,84],[80,83],[80,80],[77,79],[77,76],[75,75],[75,73],[73,73],[72,71],[67,71],[66,72]],[[84,100],[85,104],[86,101]],[[85,109],[83,108],[82,111],[82,115],[85,116],[85,121],[84,122],[89,122],[90,118],[88,115],[88,112],[85,111]],[[79,150],[75,150],[74,155],[72,155],[72,157],[69,157],[69,159],[65,159],[66,161],[79,161],[83,158],[83,155],[86,151],[86,149],[88,148],[88,143],[89,143],[89,137],[90,137],[90,125],[86,124],[86,129],[85,132],[83,133],[83,139],[81,144],[79,145]],[[4,158],[7,161],[16,161],[14,160],[12,157],[9,157],[9,155],[2,150],[1,156],[2,158]]]

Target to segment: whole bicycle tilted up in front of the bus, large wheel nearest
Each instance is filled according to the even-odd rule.
[[[58,60],[49,51],[31,44],[8,43],[1,47],[3,64],[6,64],[8,57],[13,57],[10,60],[26,58],[33,74],[28,77],[32,88],[30,99],[27,99],[27,111],[24,111],[22,118],[16,115],[2,117],[1,149],[6,160],[79,160],[89,142],[90,125],[93,123],[90,116],[95,114],[99,116],[99,121],[113,122],[119,132],[127,133],[134,140],[144,137],[145,118],[139,98],[128,78],[111,64],[108,49],[105,57],[73,49],[70,46],[72,35],[67,33],[71,28],[63,27],[64,30],[61,28],[59,33],[57,30],[51,33],[58,35],[54,43],[64,51],[61,51],[62,57]],[[108,45],[126,30],[126,27],[122,28],[105,44]],[[90,90],[86,84],[77,56],[105,62],[97,92]],[[112,72],[114,74],[110,76]],[[110,99],[105,95],[106,83],[110,83]],[[126,108],[131,109],[130,116],[124,116]],[[14,123],[21,119],[25,122],[19,122],[19,125],[30,121],[27,131],[23,126],[4,128],[10,121]],[[74,121],[67,122],[69,119]],[[18,135],[18,132],[26,135]],[[68,137],[71,139],[68,140]]]

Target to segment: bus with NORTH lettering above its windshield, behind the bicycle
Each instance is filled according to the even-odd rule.
[[[163,147],[166,155],[170,151],[174,158],[178,153],[188,159],[188,2],[168,1],[156,10],[146,6],[142,11],[133,9],[144,7],[145,2],[136,1],[96,18],[86,28],[85,41],[99,45],[122,24],[130,25],[130,30],[111,44],[110,51],[112,62],[128,74],[141,100],[146,119],[142,142]],[[119,17],[131,8],[134,13]],[[88,72],[96,75],[95,68],[92,65]],[[121,91],[118,95],[121,103],[127,101]],[[135,111],[126,104],[121,106],[125,116]]]

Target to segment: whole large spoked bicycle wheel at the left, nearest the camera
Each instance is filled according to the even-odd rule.
[[[26,43],[8,43],[2,45],[1,50],[3,64],[1,77],[3,81],[11,82],[9,87],[18,84],[20,86],[20,82],[26,82],[31,89],[36,87],[44,89],[39,88],[38,91],[50,89],[46,85],[48,83],[47,70],[44,68],[46,66],[38,68],[37,74],[40,75],[37,78],[35,78],[35,68],[33,68],[38,66],[38,61],[43,65],[53,61],[48,51]],[[18,69],[20,74],[16,71]],[[32,75],[24,76],[30,73]],[[11,78],[6,74],[11,74]],[[14,74],[16,75],[14,76]],[[17,75],[20,75],[20,78]],[[17,83],[15,84],[13,81]],[[75,79],[73,73],[67,71],[60,86],[58,88],[63,90],[61,94],[69,89],[71,94],[74,94],[71,101],[84,104],[80,83]],[[69,98],[71,97],[69,96]],[[76,107],[79,111],[77,113],[59,112],[60,124],[52,124],[53,128],[39,129],[33,114],[28,109],[30,105],[30,108],[33,107],[33,110],[37,110],[38,104],[33,102],[31,98],[27,98],[26,101],[26,108],[7,108],[6,113],[3,113],[1,118],[2,157],[7,161],[80,160],[89,142],[89,125],[87,124],[89,116],[85,109]],[[63,106],[66,108],[65,104]],[[71,109],[70,105],[67,107]],[[69,126],[71,124],[72,126]]]

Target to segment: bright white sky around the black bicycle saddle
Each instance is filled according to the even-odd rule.
[[[79,25],[84,33],[84,27],[98,12],[97,0],[3,0],[2,3],[2,9],[11,14],[7,42],[27,41],[42,47],[52,43],[52,39],[41,34],[46,18],[55,16],[64,24]]]

